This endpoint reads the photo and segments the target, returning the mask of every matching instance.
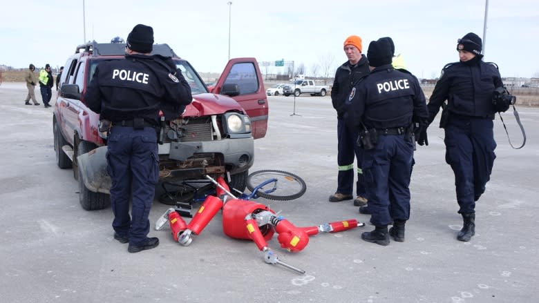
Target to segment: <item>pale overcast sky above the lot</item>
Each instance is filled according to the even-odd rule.
[[[370,41],[389,36],[408,70],[419,78],[438,77],[458,61],[457,39],[467,32],[483,37],[484,0],[26,0],[0,11],[0,65],[34,63],[63,66],[86,41],[123,39],[137,23],[153,27],[155,43],[168,43],[198,72],[221,72],[231,57],[303,63],[346,61],[349,35]],[[539,1],[491,0],[485,61],[500,66],[502,77],[539,77]],[[326,58],[326,59],[322,59]],[[275,72],[284,68],[274,69]],[[264,70],[263,70],[264,72]]]

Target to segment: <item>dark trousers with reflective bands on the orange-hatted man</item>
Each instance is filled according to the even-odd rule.
[[[352,195],[354,191],[354,156],[357,159],[357,183],[356,193],[365,197],[365,186],[361,181],[361,157],[362,151],[357,146],[357,133],[346,126],[344,119],[337,119],[337,165],[339,175],[337,175],[337,193]]]

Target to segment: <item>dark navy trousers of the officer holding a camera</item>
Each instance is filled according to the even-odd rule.
[[[451,115],[445,133],[446,162],[455,174],[458,213],[475,213],[475,201],[484,193],[496,157],[493,121]]]

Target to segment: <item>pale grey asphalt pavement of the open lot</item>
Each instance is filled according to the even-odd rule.
[[[150,232],[160,238],[158,248],[128,253],[113,239],[111,208],[84,211],[72,170],[56,166],[53,108],[26,106],[25,97],[22,83],[0,87],[0,302],[539,302],[538,108],[518,108],[527,130],[520,150],[511,148],[496,117],[497,158],[477,202],[471,242],[456,240],[462,219],[435,121],[429,146],[415,153],[406,241],[364,242],[361,233],[373,228],[367,224],[314,235],[303,251],[289,253],[275,236],[269,246],[305,270],[299,275],[265,264],[253,242],[224,235],[220,213],[190,246],[174,242],[166,227]],[[256,202],[296,226],[368,223],[352,200],[328,202],[337,183],[330,97],[268,101],[269,128],[256,140],[251,171],[290,171],[308,189],[292,201]],[[503,117],[520,144],[512,112]],[[167,208],[154,202],[152,226]]]

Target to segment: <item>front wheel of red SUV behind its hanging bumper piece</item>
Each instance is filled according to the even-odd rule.
[[[80,141],[77,148],[77,155],[88,153],[95,148],[95,144],[88,141]],[[97,211],[106,208],[111,204],[111,196],[105,193],[94,193],[88,190],[84,185],[82,177],[82,169],[78,169],[79,173],[79,203],[86,211]]]

